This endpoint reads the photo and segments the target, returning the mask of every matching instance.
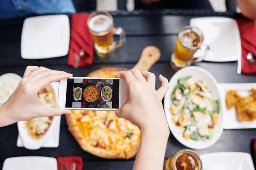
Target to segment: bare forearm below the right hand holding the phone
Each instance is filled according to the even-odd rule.
[[[168,129],[169,130],[169,129]],[[163,170],[168,133],[141,133],[140,149],[134,161],[133,170]]]

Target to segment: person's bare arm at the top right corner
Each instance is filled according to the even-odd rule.
[[[236,0],[241,13],[252,20],[256,20],[256,0]]]

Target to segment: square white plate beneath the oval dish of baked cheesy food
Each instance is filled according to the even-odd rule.
[[[51,83],[51,86],[55,94],[55,101],[56,101],[56,107],[57,107],[58,82]],[[58,147],[59,146],[61,116],[56,116],[55,118],[56,118],[55,127],[53,128],[51,134],[49,135],[48,139],[44,142],[42,147]],[[19,135],[17,139],[17,147],[23,147],[23,143]]]

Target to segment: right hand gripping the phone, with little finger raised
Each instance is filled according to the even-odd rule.
[[[127,99],[125,104],[116,110],[116,116],[127,119],[141,131],[150,129],[159,133],[159,130],[163,130],[169,135],[161,102],[169,89],[168,80],[160,75],[162,86],[156,91],[155,75],[148,71],[121,71],[116,77],[124,78],[127,83]]]

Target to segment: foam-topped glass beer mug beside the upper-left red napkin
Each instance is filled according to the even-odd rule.
[[[95,11],[87,19],[87,26],[93,35],[94,48],[100,57],[108,57],[111,52],[125,44],[123,28],[114,28],[111,14],[104,11]],[[119,40],[113,40],[113,34],[119,35]]]

